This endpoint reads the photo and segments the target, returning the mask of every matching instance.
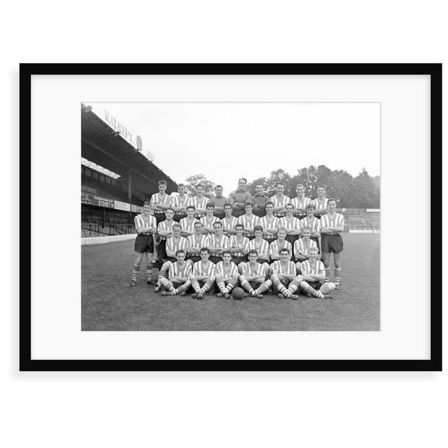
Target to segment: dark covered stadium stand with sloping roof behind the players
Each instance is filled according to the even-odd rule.
[[[81,237],[133,234],[134,216],[167,181],[176,183],[120,132],[81,104]]]

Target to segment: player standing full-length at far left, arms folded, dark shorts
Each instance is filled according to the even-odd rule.
[[[137,276],[139,275],[143,254],[146,256],[146,281],[148,284],[151,284],[154,251],[153,235],[157,232],[157,223],[154,216],[151,216],[151,204],[149,202],[143,204],[143,213],[134,218],[134,223],[135,229],[137,230],[134,251],[137,253],[137,256],[134,261],[134,268],[132,269],[130,286],[137,285]]]

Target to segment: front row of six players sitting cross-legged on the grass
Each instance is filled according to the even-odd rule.
[[[279,297],[297,300],[295,294],[301,291],[308,297],[332,298],[330,293],[335,284],[325,282],[323,262],[317,260],[318,249],[311,246],[308,260],[297,263],[290,260],[290,250],[281,248],[279,260],[267,265],[259,262],[260,254],[255,249],[248,251],[248,261],[237,267],[232,261],[232,253],[223,251],[217,264],[209,260],[210,250],[200,249],[200,260],[185,260],[185,249],[176,250],[176,261],[170,263],[167,278],[161,272],[155,292],[162,289],[162,295],[186,295],[193,288],[193,297],[201,300],[206,293],[213,293],[216,286],[218,297],[230,298],[232,289],[238,284],[246,291],[246,296],[262,298],[269,288]],[[239,269],[241,268],[241,269]]]

